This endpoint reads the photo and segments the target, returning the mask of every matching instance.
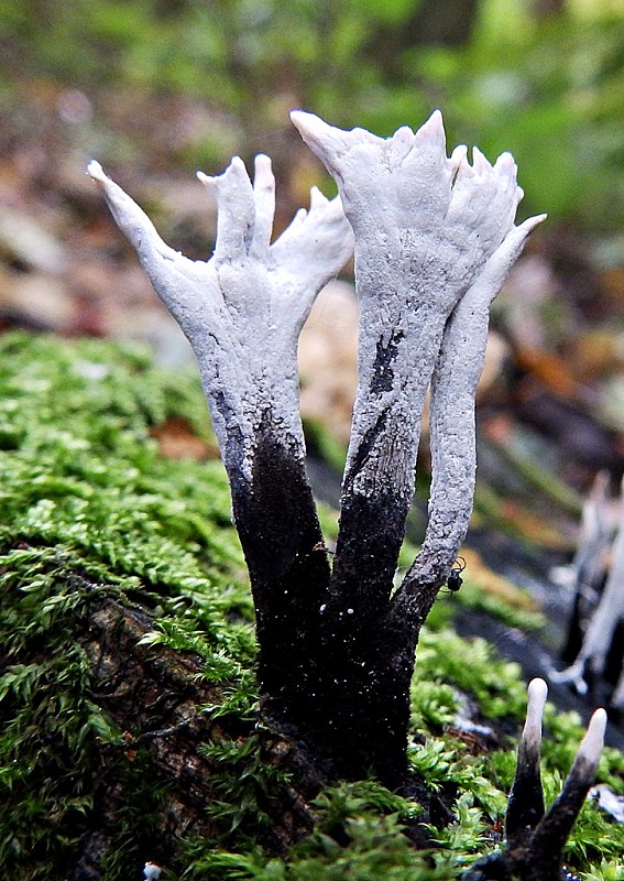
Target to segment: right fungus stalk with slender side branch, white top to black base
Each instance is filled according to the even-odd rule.
[[[523,193],[512,156],[491,165],[474,149],[470,164],[459,146],[448,157],[438,111],[416,132],[404,127],[388,139],[303,111],[292,119],[338,184],[355,236],[360,303],[359,384],[325,614],[327,654],[339,671],[327,737],[343,740],[347,769],[374,752],[377,772],[392,781],[419,629],[472,510],[489,306],[544,216],[515,227]],[[430,383],[429,526],[393,594]],[[373,718],[374,733],[365,721]]]

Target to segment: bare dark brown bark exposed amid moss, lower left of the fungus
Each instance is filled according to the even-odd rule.
[[[153,629],[151,616],[140,606],[95,597],[78,637],[91,666],[92,693],[98,704],[122,731],[119,744],[101,744],[100,764],[94,780],[94,809],[84,823],[79,847],[65,874],[70,881],[103,881],[102,862],[119,835],[120,814],[135,796],[125,780],[133,765],[145,765],[149,785],[163,788],[157,804],[157,824],[136,823],[133,837],[147,859],[174,870],[179,862],[180,840],[216,834],[207,806],[215,797],[219,766],[201,747],[236,741],[253,733],[254,725],[233,716],[214,720],[202,707],[219,705],[222,688],[201,675],[201,659],[180,654],[164,645],[140,644]],[[306,755],[278,731],[262,736],[263,759],[292,772],[293,785],[276,785],[262,807],[271,816],[263,844],[276,853],[309,833],[313,814],[308,801],[322,779]],[[145,805],[150,813],[150,805]],[[138,863],[136,877],[143,862]]]

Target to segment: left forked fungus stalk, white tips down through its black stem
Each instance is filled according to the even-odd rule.
[[[251,577],[261,689],[272,713],[303,726],[302,714],[316,711],[302,683],[319,651],[329,564],[314,553],[322,534],[304,466],[296,355],[316,295],[352,252],[340,199],[313,189],[309,211],[271,242],[271,162],[256,156],[252,184],[234,157],[222,175],[199,175],[217,199],[217,241],[210,260],[194,261],[165,244],[97,162],[88,171],[197,357]]]

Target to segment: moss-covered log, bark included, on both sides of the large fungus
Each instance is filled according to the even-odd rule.
[[[457,878],[495,844],[517,671],[424,631],[413,786],[321,788],[259,708],[222,467],[163,455],[172,425],[208,454],[205,418],[195,382],[144,355],[0,337],[0,874],[131,881],[153,860],[167,881]],[[459,695],[492,736],[462,740]],[[578,730],[548,726],[547,768],[567,773]],[[622,774],[607,753],[603,779]],[[431,836],[441,848],[414,848]],[[589,806],[569,857],[614,866],[623,846]]]

